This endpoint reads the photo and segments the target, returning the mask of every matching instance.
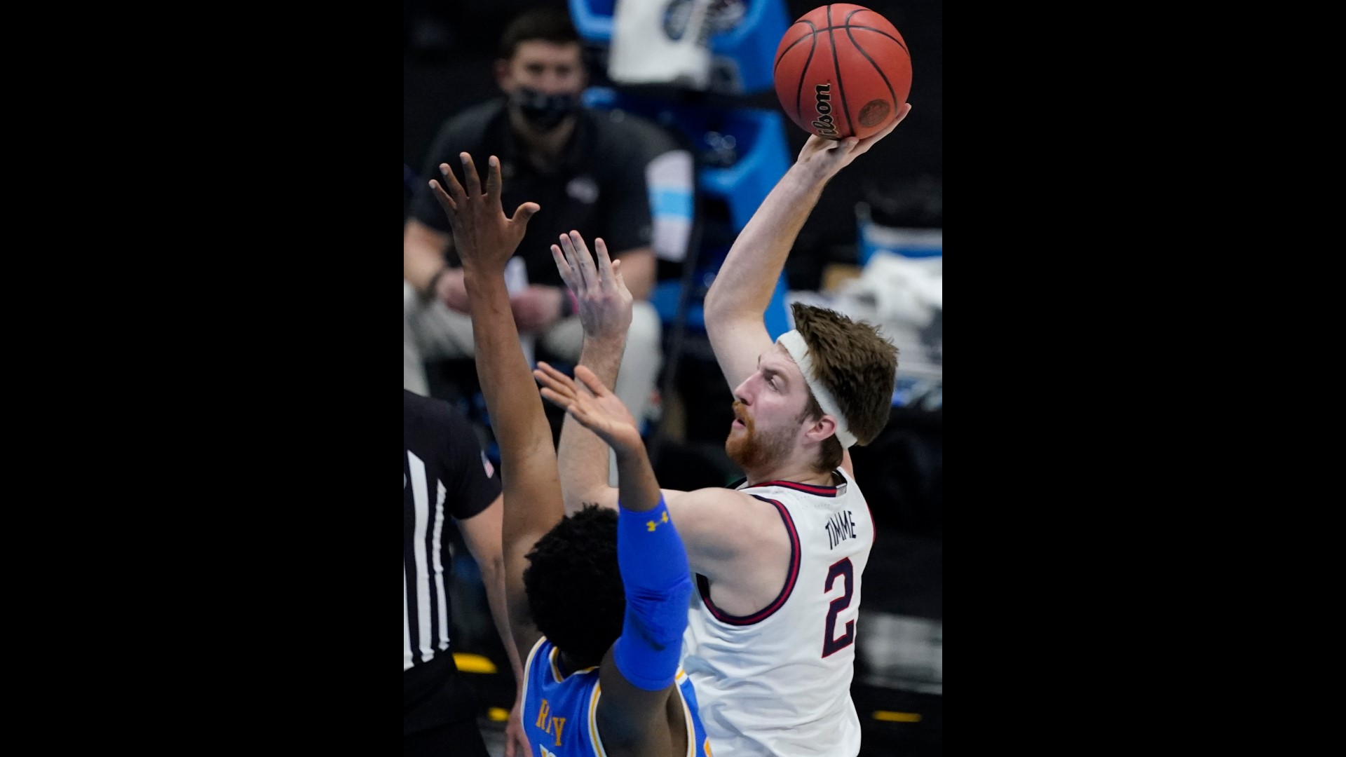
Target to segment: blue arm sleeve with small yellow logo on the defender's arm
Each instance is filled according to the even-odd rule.
[[[626,618],[612,659],[637,687],[666,688],[682,656],[692,568],[662,497],[647,512],[618,508],[616,564],[626,591]]]

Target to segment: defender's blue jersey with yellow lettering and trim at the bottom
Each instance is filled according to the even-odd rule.
[[[546,637],[537,640],[524,663],[524,730],[533,757],[607,757],[598,735],[598,667],[561,678],[557,649]],[[676,687],[682,696],[688,726],[686,757],[711,757],[711,745],[696,709],[696,691],[682,668]]]

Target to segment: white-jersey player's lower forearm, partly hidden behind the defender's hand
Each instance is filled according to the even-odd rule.
[[[615,387],[625,348],[625,335],[606,341],[586,335],[579,364],[592,370],[604,387]],[[590,502],[616,506],[615,492],[607,484],[607,442],[598,434],[565,415],[556,465],[561,471],[567,513],[579,512]]]

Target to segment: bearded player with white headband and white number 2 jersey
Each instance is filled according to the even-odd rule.
[[[794,307],[797,329],[773,342],[763,314],[824,185],[907,112],[903,105],[891,127],[864,140],[809,137],[707,295],[707,331],[735,396],[725,450],[747,480],[664,496],[696,574],[682,667],[716,757],[860,750],[849,690],[875,531],[845,449],[883,430],[896,349],[868,325],[805,306]],[[595,246],[606,255],[602,240]],[[588,256],[575,233],[552,252],[559,265]],[[596,337],[586,326],[580,362],[611,383],[621,352]],[[545,365],[534,374],[544,385],[561,380]],[[614,506],[607,450],[571,419],[559,469],[568,511]]]

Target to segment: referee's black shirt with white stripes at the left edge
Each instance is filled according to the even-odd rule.
[[[402,671],[446,652],[452,629],[446,520],[472,517],[499,478],[454,405],[402,389]]]

